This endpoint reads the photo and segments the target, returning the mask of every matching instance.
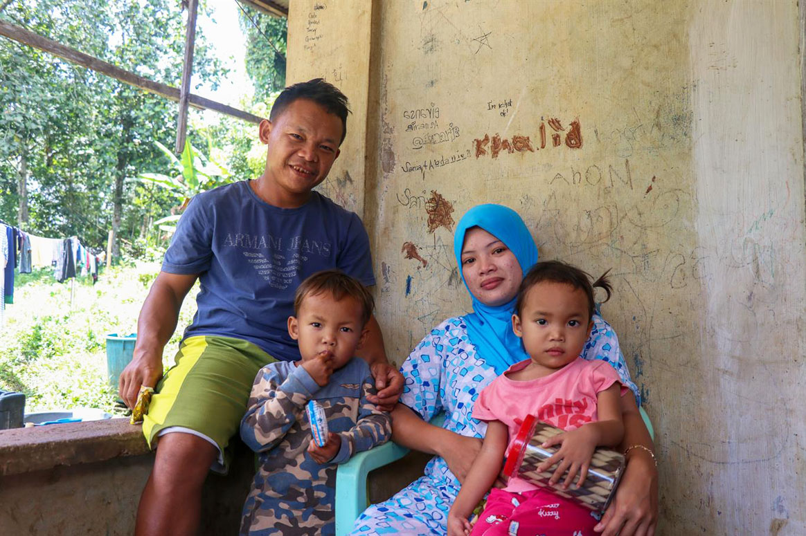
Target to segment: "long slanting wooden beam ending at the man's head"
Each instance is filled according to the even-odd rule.
[[[41,35],[35,34],[32,31],[26,30],[25,28],[7,23],[4,20],[0,20],[0,35],[9,39],[14,39],[15,41],[26,44],[29,47],[38,48],[39,50],[48,52],[48,54],[52,54],[53,56],[59,56],[61,59],[67,60],[73,64],[81,65],[81,67],[92,69],[93,71],[100,72],[106,76],[111,76],[112,78],[120,80],[128,85],[133,85],[135,88],[143,89],[149,93],[160,95],[160,97],[165,97],[174,102],[179,101],[180,91],[177,88],[174,88],[170,85],[160,84],[160,82],[155,82],[154,80],[148,80],[147,78],[143,78],[143,76],[135,75],[133,72],[129,72],[122,68],[116,67],[113,64],[106,63],[106,61],[98,60],[98,58],[93,58],[93,56],[89,56],[84,52],[78,52],[73,48],[65,47],[63,44],[57,43],[52,39],[42,37]],[[193,95],[193,93],[188,95],[188,102],[189,105],[193,106],[194,108],[211,109],[215,112],[224,113],[234,118],[242,119],[246,122],[260,123],[263,120],[263,118],[260,118],[252,113],[244,112],[243,110],[221,104],[220,102],[211,101],[205,97]]]

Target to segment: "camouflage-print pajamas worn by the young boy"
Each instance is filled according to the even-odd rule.
[[[392,433],[389,415],[367,401],[374,393],[369,367],[357,358],[321,388],[293,362],[260,369],[241,421],[241,438],[258,453],[260,466],[243,505],[240,534],[335,534],[336,465]],[[342,438],[328,464],[307,453],[312,435],[305,404],[311,399],[322,404],[330,431]]]

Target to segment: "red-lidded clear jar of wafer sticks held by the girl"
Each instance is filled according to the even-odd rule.
[[[549,484],[556,465],[544,472],[538,472],[538,465],[554,456],[560,445],[553,447],[541,447],[540,445],[562,431],[558,427],[538,421],[534,415],[527,416],[507,451],[507,460],[504,465],[505,476],[509,478],[519,476],[532,484],[548,488],[561,497],[578,502],[594,512],[604,512],[621,480],[621,473],[624,472],[624,456],[621,452],[598,447],[593,452],[588,477],[581,488],[571,486],[568,489],[562,489],[561,484],[565,475],[557,484]],[[576,481],[576,479],[574,480]]]

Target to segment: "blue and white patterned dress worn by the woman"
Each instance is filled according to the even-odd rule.
[[[582,357],[613,365],[640,405],[638,387],[629,379],[616,332],[600,315],[593,316],[593,323]],[[402,403],[426,421],[444,411],[442,427],[461,435],[484,437],[486,423],[477,421],[471,414],[480,391],[495,379],[496,373],[476,355],[476,347],[467,338],[467,327],[461,316],[449,318],[432,329],[409,354],[401,372],[405,376]],[[444,536],[448,510],[458,494],[459,481],[446,461],[434,456],[426,466],[425,476],[388,501],[370,506],[355,522],[351,534]]]

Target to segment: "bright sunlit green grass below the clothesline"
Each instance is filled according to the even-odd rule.
[[[26,395],[26,412],[94,407],[120,413],[106,370],[106,335],[135,333],[137,316],[159,262],[113,266],[93,286],[89,277],[56,282],[52,270],[16,274],[15,303],[0,327],[0,390]],[[172,365],[181,333],[195,312],[197,287],[185,300],[179,328],[165,347]]]

